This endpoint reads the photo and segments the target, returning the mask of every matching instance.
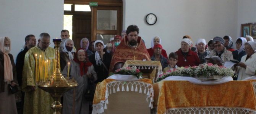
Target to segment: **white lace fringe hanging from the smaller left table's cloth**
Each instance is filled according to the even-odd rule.
[[[122,85],[122,89],[120,89],[119,87],[120,85]],[[129,88],[129,85],[131,85],[131,88]],[[115,89],[115,87],[117,87],[117,89]],[[144,88],[144,90],[142,90],[142,88]],[[107,109],[107,104],[109,104],[109,100],[108,100],[109,95],[114,94],[116,92],[120,92],[120,91],[126,91],[126,92],[133,91],[133,92],[146,94],[147,95],[146,101],[149,102],[149,107],[153,108],[154,90],[153,90],[152,84],[148,84],[141,81],[113,81],[113,82],[107,83],[105,100],[100,101],[100,103],[96,105],[92,105],[93,107],[92,114],[100,114],[104,112],[104,109]]]

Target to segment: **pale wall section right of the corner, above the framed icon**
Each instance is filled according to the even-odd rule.
[[[237,36],[241,36],[241,24],[256,22],[255,5],[256,0],[238,0]]]

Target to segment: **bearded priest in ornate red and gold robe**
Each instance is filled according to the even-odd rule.
[[[126,60],[151,60],[147,48],[139,35],[137,25],[130,25],[126,29],[125,38],[115,50],[109,71],[113,72],[123,67]]]

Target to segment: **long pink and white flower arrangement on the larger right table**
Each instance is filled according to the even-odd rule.
[[[198,77],[198,76],[205,76],[211,77],[214,75],[220,76],[234,76],[235,71],[231,68],[226,68],[224,66],[213,65],[212,63],[208,64],[200,64],[199,66],[193,67],[180,67],[177,69],[173,69],[172,71],[169,70],[164,74],[160,74],[157,82],[161,81],[162,79],[167,78],[168,76],[190,76],[190,77]]]

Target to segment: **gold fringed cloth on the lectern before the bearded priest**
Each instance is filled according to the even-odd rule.
[[[150,74],[150,79],[155,82],[159,74],[162,74],[162,65],[160,61],[126,60],[123,67],[138,67],[139,70],[154,69]]]

